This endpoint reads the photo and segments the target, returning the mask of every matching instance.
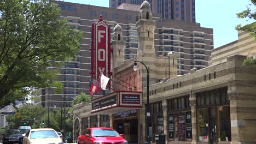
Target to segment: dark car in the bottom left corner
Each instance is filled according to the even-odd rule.
[[[4,132],[2,142],[3,144],[9,143],[22,143],[22,134],[19,129],[9,129]]]

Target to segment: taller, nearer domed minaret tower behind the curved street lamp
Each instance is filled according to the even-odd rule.
[[[155,70],[155,47],[154,47],[154,30],[155,20],[152,20],[152,12],[148,1],[141,4],[141,11],[139,12],[139,20],[136,22],[138,32],[138,51],[137,60],[147,65],[149,71]],[[142,77],[143,84],[146,85],[147,70],[143,67]],[[150,73],[150,72],[149,72]],[[156,74],[150,73],[149,85],[156,83]]]

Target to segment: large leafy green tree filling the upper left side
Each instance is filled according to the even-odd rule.
[[[46,69],[79,52],[82,32],[59,19],[53,0],[0,0],[0,108],[25,100],[32,88],[62,88]]]

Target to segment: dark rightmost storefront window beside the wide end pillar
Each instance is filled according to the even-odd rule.
[[[231,141],[230,108],[219,106],[219,141]]]

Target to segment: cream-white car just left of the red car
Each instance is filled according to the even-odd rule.
[[[61,137],[57,134],[54,129],[31,129],[23,137],[23,144],[63,144]]]

